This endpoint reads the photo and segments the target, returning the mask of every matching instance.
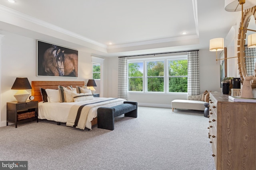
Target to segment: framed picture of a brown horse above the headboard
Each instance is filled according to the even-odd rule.
[[[37,40],[37,76],[78,77],[78,51]]]

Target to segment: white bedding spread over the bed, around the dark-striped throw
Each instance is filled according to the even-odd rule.
[[[109,100],[109,99],[114,99],[114,98],[94,98],[93,100],[86,100],[81,102],[60,102],[60,103],[39,102],[38,103],[38,119],[47,119],[47,120],[52,120],[56,122],[66,123],[70,109],[73,105],[90,104],[90,103],[100,102],[100,101]],[[111,102],[108,102],[108,104],[102,105],[102,103],[99,103],[98,106],[92,107],[88,112],[88,117],[86,120],[85,127],[88,129],[92,129],[91,121],[93,118],[97,117],[98,107],[117,106],[117,105],[123,104],[124,101],[126,100],[117,98],[117,99],[111,100]]]

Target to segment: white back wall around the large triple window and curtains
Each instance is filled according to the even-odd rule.
[[[199,51],[200,91],[218,91],[220,89],[220,63],[216,64],[216,53]],[[108,62],[108,97],[118,96],[118,57],[106,59]],[[174,99],[186,99],[187,94],[143,94],[128,93],[128,100],[138,102],[140,106],[171,107]]]

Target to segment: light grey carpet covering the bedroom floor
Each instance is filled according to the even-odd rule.
[[[83,131],[51,121],[0,127],[0,160],[29,170],[214,170],[204,112],[138,107],[115,129]]]

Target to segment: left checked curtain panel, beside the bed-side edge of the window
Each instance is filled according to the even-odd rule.
[[[119,57],[118,98],[127,100],[127,57]]]

